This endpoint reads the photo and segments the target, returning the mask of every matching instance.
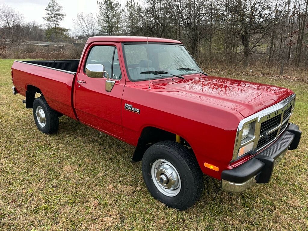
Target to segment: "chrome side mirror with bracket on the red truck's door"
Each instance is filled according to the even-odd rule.
[[[109,74],[105,71],[104,65],[91,63],[86,66],[86,75],[90,78],[104,78],[104,73],[107,75],[105,89],[110,92],[115,84],[115,81],[109,80]]]

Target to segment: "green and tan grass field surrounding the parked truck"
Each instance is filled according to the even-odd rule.
[[[229,76],[293,89],[302,141],[269,184],[232,194],[205,176],[201,199],[176,211],[148,193],[132,146],[66,116],[58,133],[39,132],[11,93],[12,63],[0,60],[0,230],[307,230],[307,83]]]

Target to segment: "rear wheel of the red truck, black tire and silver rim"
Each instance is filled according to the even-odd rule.
[[[46,99],[41,96],[33,101],[33,117],[37,128],[46,134],[58,131],[58,112],[49,107]]]

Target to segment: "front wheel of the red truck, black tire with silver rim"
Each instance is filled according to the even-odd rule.
[[[197,160],[174,141],[161,141],[147,149],[142,158],[142,175],[155,199],[178,210],[191,207],[204,188]]]

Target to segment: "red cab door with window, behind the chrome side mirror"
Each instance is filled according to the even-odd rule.
[[[123,71],[118,46],[118,43],[94,43],[88,49],[75,83],[74,106],[82,123],[121,139],[121,100],[125,78],[121,78]],[[104,78],[86,75],[85,66],[91,63],[104,65],[109,78],[113,77],[115,84],[110,92],[105,88],[106,75]]]

